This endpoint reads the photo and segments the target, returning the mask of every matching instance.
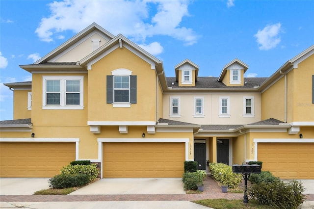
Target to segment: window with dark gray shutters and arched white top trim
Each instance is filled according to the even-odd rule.
[[[107,76],[107,104],[131,107],[136,104],[136,76],[128,69],[117,69]]]

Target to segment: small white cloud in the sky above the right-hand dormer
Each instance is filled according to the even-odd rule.
[[[281,32],[281,23],[267,25],[262,30],[254,35],[257,38],[257,43],[259,44],[260,50],[270,50],[276,47],[281,38],[279,33]]]

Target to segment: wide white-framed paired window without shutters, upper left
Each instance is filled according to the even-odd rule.
[[[83,109],[83,76],[43,76],[43,109]]]

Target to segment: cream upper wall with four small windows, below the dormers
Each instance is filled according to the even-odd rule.
[[[171,114],[171,99],[180,98],[179,114]],[[202,99],[203,113],[195,112],[195,100]],[[221,99],[226,98],[227,113],[221,114]],[[252,99],[252,114],[244,114],[245,99]],[[163,118],[194,124],[250,124],[261,120],[261,95],[253,92],[236,93],[166,93],[163,96]]]

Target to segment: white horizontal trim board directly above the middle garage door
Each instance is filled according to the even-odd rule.
[[[189,138],[97,138],[98,142],[189,142]]]

